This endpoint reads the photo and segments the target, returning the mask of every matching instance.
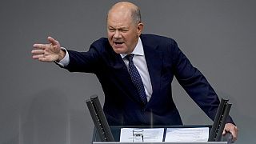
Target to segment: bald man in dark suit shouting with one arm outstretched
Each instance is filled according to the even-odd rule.
[[[142,34],[138,6],[118,2],[107,15],[108,38],[95,41],[88,52],[61,48],[58,41],[34,44],[33,58],[56,62],[71,72],[94,73],[105,94],[103,110],[110,125],[182,125],[171,94],[174,76],[214,120],[218,96],[171,38]],[[223,134],[237,138],[228,117]]]

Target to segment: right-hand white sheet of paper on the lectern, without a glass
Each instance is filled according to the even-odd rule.
[[[168,128],[165,142],[207,142],[209,127]]]

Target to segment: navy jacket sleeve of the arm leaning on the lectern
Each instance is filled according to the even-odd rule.
[[[186,93],[190,95],[190,98],[214,121],[220,103],[218,95],[205,76],[192,66],[186,55],[178,48],[176,42],[173,43],[172,48],[175,77],[186,90]],[[230,116],[226,122],[234,123]]]

